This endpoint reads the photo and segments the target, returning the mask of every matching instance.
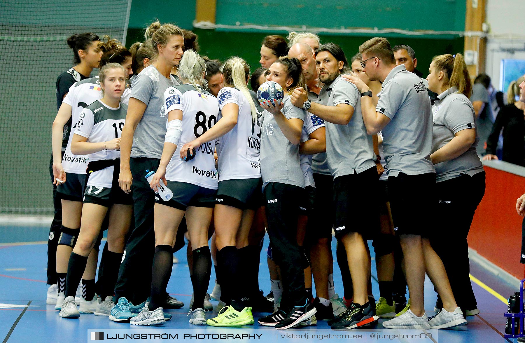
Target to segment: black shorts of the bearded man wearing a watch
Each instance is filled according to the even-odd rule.
[[[333,180],[336,238],[350,232],[360,233],[365,240],[374,238],[380,227],[377,183],[375,165],[361,173],[354,171]]]

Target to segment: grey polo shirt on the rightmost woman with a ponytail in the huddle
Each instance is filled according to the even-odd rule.
[[[476,130],[474,107],[470,100],[456,87],[441,93],[432,106],[434,130],[432,134],[432,152],[450,142],[454,135],[465,129]],[[470,176],[482,172],[483,166],[476,153],[476,141],[459,157],[435,165],[436,182],[454,179],[461,173]]]

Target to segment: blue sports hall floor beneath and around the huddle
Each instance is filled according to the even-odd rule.
[[[108,317],[81,315],[80,319],[62,319],[53,305],[46,305],[46,259],[48,227],[0,226],[0,341],[5,342],[86,342],[101,338],[95,332],[106,331],[104,340],[115,339],[124,341],[352,341],[352,342],[513,342],[503,338],[505,318],[503,313],[507,305],[502,300],[515,290],[497,276],[486,271],[475,262],[471,262],[471,275],[476,279],[472,283],[478,300],[481,314],[469,317],[468,325],[450,330],[398,330],[383,329],[380,324],[377,329],[358,329],[336,331],[331,330],[326,321],[319,321],[317,326],[278,331],[272,327],[257,324],[259,314],[254,314],[256,324],[244,328],[213,328],[192,326],[186,317],[192,286],[188,274],[185,249],[177,252],[178,264],[173,265],[173,273],[167,290],[170,294],[186,305],[183,309],[169,310],[173,319],[162,327],[131,327],[129,324],[113,323]],[[33,242],[28,242],[33,241]],[[265,246],[268,244],[265,238]],[[335,256],[335,240],[332,240],[332,250]],[[265,251],[265,250],[264,250]],[[373,254],[373,249],[371,249]],[[372,274],[375,278],[375,263],[372,263]],[[215,278],[212,269],[211,285]],[[266,267],[266,254],[261,254],[260,287],[265,294],[269,292],[270,281]],[[335,290],[342,296],[341,275],[337,263],[334,263]],[[481,285],[481,286],[480,286]],[[491,291],[491,293],[489,293]],[[373,292],[379,298],[379,288],[373,280]],[[434,308],[436,295],[432,284],[427,278],[425,285],[425,307],[427,314]],[[505,300],[506,302],[506,300]],[[216,302],[213,302],[216,305]],[[216,313],[208,313],[207,317]],[[117,329],[117,330],[114,330]],[[93,332],[93,334],[91,334]],[[127,336],[138,339],[117,339]],[[137,335],[141,334],[141,335]],[[157,336],[155,336],[155,334]],[[169,334],[163,335],[161,334]],[[196,336],[196,334],[199,334]],[[209,334],[209,335],[206,335]],[[212,335],[213,334],[213,335]],[[226,336],[225,334],[229,334]],[[405,336],[394,336],[404,334]],[[424,334],[423,337],[415,336]],[[429,338],[432,334],[432,338]],[[177,339],[173,339],[177,335]],[[193,335],[193,336],[192,336]],[[297,335],[297,336],[294,336]],[[329,336],[333,335],[333,336]],[[345,336],[346,335],[346,336]],[[358,336],[361,335],[361,336]],[[382,336],[385,335],[385,336]],[[386,336],[390,335],[390,336]],[[412,336],[411,336],[412,335]],[[170,337],[168,339],[161,339]]]

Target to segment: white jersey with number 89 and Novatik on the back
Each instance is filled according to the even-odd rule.
[[[215,140],[198,147],[195,157],[181,160],[180,151],[184,144],[200,137],[217,122],[219,104],[217,98],[206,91],[199,92],[192,85],[169,87],[164,92],[166,113],[182,111],[182,135],[170,163],[166,167],[166,180],[192,183],[204,188],[217,189],[215,169]],[[167,122],[166,122],[167,124]]]

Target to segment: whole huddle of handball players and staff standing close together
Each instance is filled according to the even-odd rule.
[[[414,50],[386,38],[350,60],[315,34],[288,40],[267,36],[250,75],[240,57],[198,55],[195,34],[172,24],[152,23],[130,50],[108,36],[68,39],[75,66],[57,80],[50,166],[47,303],[60,317],[164,324],[164,310],[184,306],[166,287],[185,239],[193,325],[251,325],[260,312],[260,325],[280,330],[379,318],[439,329],[479,313],[466,238],[485,172],[463,56],[434,57],[423,79]],[[282,101],[257,98],[265,81],[282,87]],[[332,232],[344,297],[334,292]],[[433,317],[425,273],[438,294]],[[218,313],[206,319],[211,298]]]

